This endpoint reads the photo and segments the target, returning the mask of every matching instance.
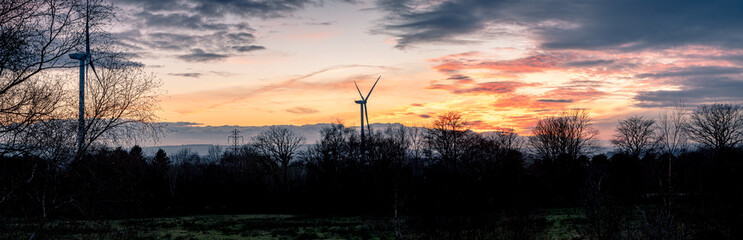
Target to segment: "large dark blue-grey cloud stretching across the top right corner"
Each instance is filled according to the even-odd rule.
[[[398,48],[452,42],[491,24],[527,26],[548,49],[644,49],[689,44],[743,47],[741,1],[379,0],[376,32]]]

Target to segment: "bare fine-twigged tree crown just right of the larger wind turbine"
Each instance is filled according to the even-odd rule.
[[[157,139],[162,126],[155,111],[159,109],[162,83],[144,72],[141,64],[128,62],[124,57],[112,56],[99,62],[100,79],[89,81],[86,89],[86,149],[94,144]]]

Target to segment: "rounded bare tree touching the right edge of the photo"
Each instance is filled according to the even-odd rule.
[[[694,141],[715,151],[735,148],[743,142],[743,106],[700,105],[691,114],[687,129]]]

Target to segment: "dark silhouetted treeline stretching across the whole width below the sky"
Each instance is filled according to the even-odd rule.
[[[653,234],[741,236],[743,108],[677,108],[619,122],[616,152],[595,152],[584,110],[539,120],[531,137],[476,133],[461,114],[426,128],[370,131],[335,124],[304,139],[271,127],[252,143],[208,156],[188,150],[99,148],[69,162],[0,160],[6,217],[108,219],[219,213],[514,218],[580,208],[589,236],[626,226]],[[670,139],[673,138],[673,139]],[[688,140],[688,141],[687,141]],[[588,234],[587,233],[587,234]],[[625,231],[626,233],[626,231]],[[664,235],[665,234],[665,235]]]

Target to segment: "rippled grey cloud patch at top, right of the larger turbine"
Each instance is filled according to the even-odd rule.
[[[266,49],[255,44],[251,18],[289,17],[323,0],[123,0],[134,9],[125,21],[133,29],[116,33],[116,44],[147,53],[174,52],[185,61],[213,61]],[[355,3],[356,1],[335,0]],[[320,22],[319,24],[332,24]],[[191,52],[200,49],[202,52]]]

